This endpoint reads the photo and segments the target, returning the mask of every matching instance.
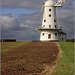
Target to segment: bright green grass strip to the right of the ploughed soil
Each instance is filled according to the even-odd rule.
[[[54,75],[74,75],[74,43],[60,42],[62,56],[55,68]]]

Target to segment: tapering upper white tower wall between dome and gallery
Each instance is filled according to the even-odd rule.
[[[44,22],[44,20],[46,22]],[[46,6],[43,14],[42,27],[57,29],[57,18],[56,18],[56,7],[48,7]]]

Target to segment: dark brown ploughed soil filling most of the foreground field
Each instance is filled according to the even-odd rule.
[[[1,53],[1,75],[44,75],[45,65],[55,65],[58,54],[56,43],[23,44]]]

